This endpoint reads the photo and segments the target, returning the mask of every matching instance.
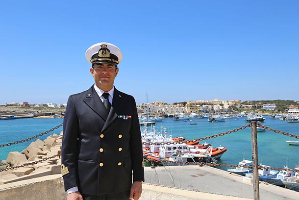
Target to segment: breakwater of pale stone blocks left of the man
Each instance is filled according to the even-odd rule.
[[[0,185],[45,175],[60,174],[61,144],[62,132],[60,135],[52,134],[44,141],[37,139],[22,152],[9,152],[6,160],[1,161],[0,170],[11,167],[14,169],[0,172]],[[49,157],[52,158],[47,159]],[[38,162],[43,159],[46,160]]]

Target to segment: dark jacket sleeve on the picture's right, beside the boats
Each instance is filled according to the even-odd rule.
[[[132,98],[133,115],[130,128],[130,152],[132,159],[133,181],[144,181],[144,163],[141,143],[141,132],[136,108],[136,102]]]

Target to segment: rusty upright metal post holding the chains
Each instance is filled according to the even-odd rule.
[[[253,175],[253,196],[254,200],[260,199],[258,180],[258,155],[257,155],[257,134],[256,122],[251,122],[251,149],[252,149],[252,175]]]

